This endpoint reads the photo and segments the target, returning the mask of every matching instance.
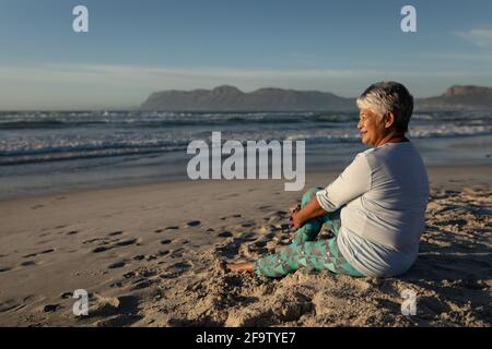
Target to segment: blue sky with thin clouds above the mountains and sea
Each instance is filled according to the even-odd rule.
[[[90,32],[72,31],[73,7]],[[417,9],[417,33],[400,10]],[[154,91],[230,84],[418,97],[492,86],[492,1],[0,0],[0,109],[138,106]]]

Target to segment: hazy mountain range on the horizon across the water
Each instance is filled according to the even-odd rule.
[[[151,94],[141,110],[161,111],[353,111],[355,98],[328,92],[259,88],[244,93],[222,85],[213,89],[163,91]],[[436,97],[415,100],[415,110],[492,110],[492,88],[452,86]]]

